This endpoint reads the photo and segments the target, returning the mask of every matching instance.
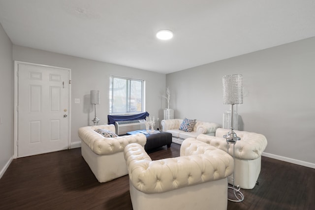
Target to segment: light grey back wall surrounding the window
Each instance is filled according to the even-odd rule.
[[[90,90],[100,91],[100,104],[96,105],[98,124],[107,124],[109,114],[109,76],[123,76],[146,81],[146,111],[150,116],[162,118],[165,100],[166,75],[95,60],[36,50],[13,45],[13,60],[65,67],[71,69],[71,143],[79,142],[78,128],[92,125],[94,106],[90,104]],[[74,99],[79,98],[80,104]],[[158,123],[157,123],[158,124]]]

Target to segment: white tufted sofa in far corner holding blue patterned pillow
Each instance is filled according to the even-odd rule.
[[[180,130],[179,127],[183,119],[162,120],[162,131],[172,134],[172,141],[177,144],[182,144],[187,138],[196,138],[199,134],[207,134],[214,136],[219,124],[214,122],[196,121],[191,132]]]

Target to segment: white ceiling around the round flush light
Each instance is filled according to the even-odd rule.
[[[315,0],[0,0],[0,23],[16,45],[171,73],[315,36]]]

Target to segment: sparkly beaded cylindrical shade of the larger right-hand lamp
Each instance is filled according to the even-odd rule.
[[[233,74],[222,77],[223,104],[243,103],[243,75]]]

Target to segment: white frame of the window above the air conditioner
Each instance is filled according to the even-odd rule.
[[[113,90],[112,90],[112,85],[113,85],[113,79],[117,78],[117,79],[125,79],[129,81],[129,87],[131,85],[130,81],[137,81],[137,82],[141,82],[142,86],[142,92],[141,92],[141,107],[142,110],[139,112],[112,112],[113,111]],[[126,88],[126,97],[128,96],[128,100],[129,104],[126,104],[126,106],[129,106],[129,108],[126,107],[126,109],[130,109],[130,91],[128,94],[128,88]],[[130,88],[129,88],[130,90]],[[142,79],[135,79],[135,78],[129,78],[129,77],[121,77],[121,76],[114,76],[114,75],[110,75],[109,76],[109,115],[133,115],[133,114],[140,114],[145,112],[145,80]]]

